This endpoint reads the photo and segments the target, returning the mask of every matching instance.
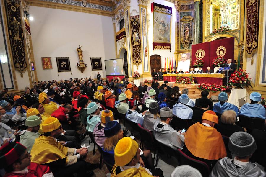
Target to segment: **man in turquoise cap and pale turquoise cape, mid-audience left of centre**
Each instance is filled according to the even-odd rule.
[[[96,124],[101,122],[100,113],[101,113],[100,108],[97,106],[95,102],[91,102],[88,104],[87,114],[89,115],[87,117],[87,127],[86,127],[88,132],[93,132]]]

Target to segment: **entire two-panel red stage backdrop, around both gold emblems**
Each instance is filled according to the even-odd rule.
[[[210,66],[210,68],[213,70],[213,59],[217,57],[216,50],[218,47],[223,46],[226,48],[226,54],[225,58],[226,60],[231,58],[232,62],[234,63],[234,45],[235,45],[234,37],[230,38],[224,38],[220,40],[214,40],[211,42],[204,42],[200,44],[192,45],[192,58],[191,58],[191,65],[193,66],[194,60],[196,59],[196,52],[199,49],[202,49],[205,51],[205,56],[203,58],[204,66],[203,71],[207,70],[207,67]]]

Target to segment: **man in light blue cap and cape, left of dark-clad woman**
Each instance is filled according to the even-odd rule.
[[[179,96],[179,102],[173,105],[173,115],[179,117],[180,119],[191,119],[193,115],[193,111],[191,108],[186,106],[189,102],[189,97],[187,94],[182,94]]]

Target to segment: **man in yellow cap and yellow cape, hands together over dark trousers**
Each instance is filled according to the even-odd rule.
[[[70,176],[74,173],[78,176],[93,175],[93,172],[86,174],[87,167],[91,164],[79,160],[87,155],[87,148],[67,148],[56,142],[56,137],[61,135],[61,124],[58,119],[54,117],[46,119],[43,122],[43,133],[35,140],[31,149],[33,162],[49,166],[54,176]],[[95,167],[97,168],[98,165],[93,168]]]

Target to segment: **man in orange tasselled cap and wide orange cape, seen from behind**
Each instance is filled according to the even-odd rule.
[[[185,145],[195,157],[206,160],[218,160],[226,157],[226,148],[222,135],[213,128],[218,124],[215,112],[205,111],[202,124],[197,122],[186,131]]]

